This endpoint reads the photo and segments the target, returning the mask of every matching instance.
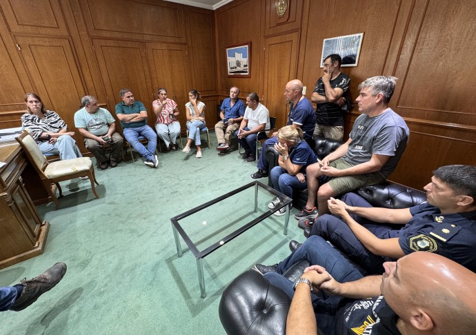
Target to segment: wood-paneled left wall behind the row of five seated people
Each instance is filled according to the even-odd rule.
[[[188,90],[201,91],[215,123],[215,17],[153,0],[6,0],[0,3],[0,128],[21,125],[23,95],[39,94],[75,130],[80,99],[95,95],[115,115],[130,88],[155,123],[152,101],[168,89],[185,126]],[[32,14],[34,12],[34,14]],[[82,137],[75,135],[82,152]]]

